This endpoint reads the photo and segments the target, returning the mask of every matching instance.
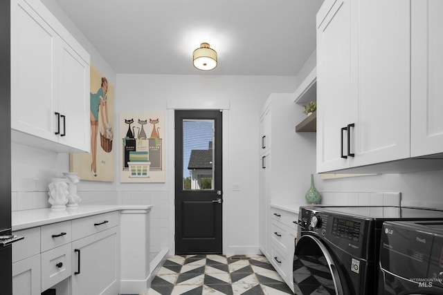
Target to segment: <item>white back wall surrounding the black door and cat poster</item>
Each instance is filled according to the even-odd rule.
[[[165,112],[168,105],[193,108],[206,105],[229,106],[228,179],[224,179],[224,251],[228,254],[258,253],[258,168],[260,152],[259,117],[262,105],[271,93],[293,93],[295,77],[117,75],[119,97],[116,109],[125,111]],[[166,126],[170,130],[170,126]],[[118,134],[118,130],[116,130]],[[164,131],[163,131],[164,132]],[[173,134],[166,134],[166,149]],[[226,139],[224,139],[226,140]],[[118,147],[120,149],[120,146]],[[170,153],[167,153],[170,155]],[[173,159],[166,159],[167,175],[174,169]],[[168,191],[165,184],[117,184],[118,190]],[[233,183],[239,191],[233,191]],[[173,195],[170,193],[170,222],[173,218]],[[173,227],[170,227],[172,238]],[[173,244],[171,242],[170,244]],[[170,245],[174,249],[173,245]]]

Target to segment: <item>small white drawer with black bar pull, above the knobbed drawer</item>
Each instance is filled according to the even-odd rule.
[[[42,252],[71,242],[71,220],[44,225],[40,230]]]

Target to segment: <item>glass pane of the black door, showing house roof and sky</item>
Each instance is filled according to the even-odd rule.
[[[183,189],[214,189],[214,120],[183,120]]]

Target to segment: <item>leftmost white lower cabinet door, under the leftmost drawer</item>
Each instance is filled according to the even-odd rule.
[[[40,295],[40,254],[12,263],[12,294]]]

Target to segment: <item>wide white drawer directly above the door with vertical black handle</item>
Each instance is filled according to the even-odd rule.
[[[116,227],[118,223],[118,211],[72,220],[72,240]]]

